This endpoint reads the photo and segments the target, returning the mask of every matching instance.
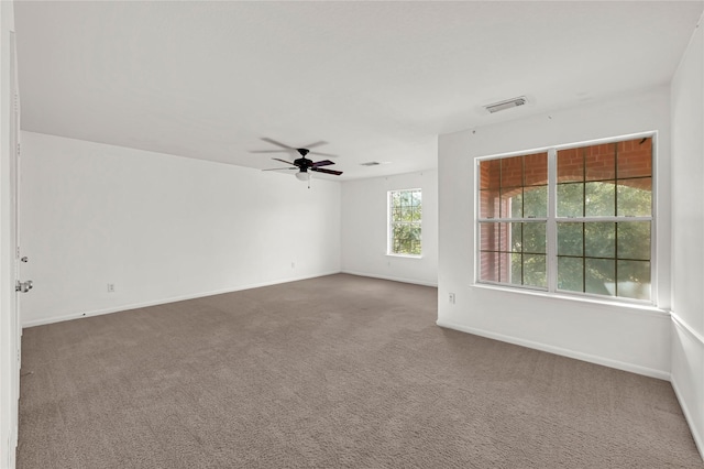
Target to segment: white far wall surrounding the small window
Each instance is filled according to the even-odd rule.
[[[422,258],[386,255],[387,193],[422,189]],[[438,172],[342,183],[342,271],[358,275],[438,284]]]

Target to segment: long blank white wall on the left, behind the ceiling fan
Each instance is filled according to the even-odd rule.
[[[340,271],[338,182],[31,132],[22,150],[25,326]]]

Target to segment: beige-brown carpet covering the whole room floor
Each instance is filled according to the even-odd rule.
[[[702,468],[670,383],[331,275],[24,330],[19,468]]]

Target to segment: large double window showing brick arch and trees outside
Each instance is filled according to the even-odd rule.
[[[652,301],[652,137],[479,161],[479,281]]]

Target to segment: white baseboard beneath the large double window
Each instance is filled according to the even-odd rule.
[[[582,360],[590,363],[596,363],[604,367],[615,368],[617,370],[629,371],[636,374],[644,374],[646,377],[670,381],[670,373],[668,371],[654,370],[647,367],[640,367],[638,364],[627,363],[627,362],[612,360],[604,357],[593,356],[590,353],[569,350],[562,347],[548,346],[544,343],[534,342],[531,340],[520,339],[517,337],[505,336],[503,334],[496,334],[488,330],[475,329],[473,327],[466,327],[460,324],[455,324],[455,323],[451,323],[442,319],[438,319],[436,324],[440,327],[446,327],[448,329],[454,329],[462,332],[473,334],[475,336],[482,336],[490,339],[501,340],[503,342],[514,343],[521,347],[528,347],[530,349],[541,350],[541,351],[546,351],[549,353],[554,353],[563,357],[574,358],[576,360]]]

